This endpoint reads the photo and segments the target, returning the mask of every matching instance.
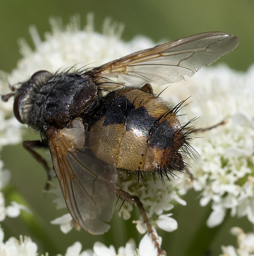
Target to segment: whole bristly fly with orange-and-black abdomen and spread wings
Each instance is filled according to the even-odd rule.
[[[89,233],[109,230],[115,195],[137,203],[148,231],[152,227],[138,197],[116,189],[117,170],[182,171],[188,135],[150,83],[176,83],[232,51],[238,38],[207,32],[127,55],[98,68],[52,74],[38,71],[12,93],[14,114],[42,134],[24,147],[49,147],[54,170],[74,222]],[[184,90],[184,88],[183,88]],[[188,132],[187,132],[188,133]],[[153,237],[155,245],[156,239]]]

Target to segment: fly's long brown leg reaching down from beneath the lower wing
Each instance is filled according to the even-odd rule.
[[[159,243],[158,243],[158,240],[157,240],[157,237],[156,235],[154,234],[154,231],[153,231],[153,228],[152,228],[152,225],[150,224],[149,222],[149,219],[145,213],[145,210],[144,210],[144,207],[143,207],[143,204],[141,203],[139,197],[137,196],[132,196],[130,195],[129,193],[123,191],[123,190],[120,190],[120,189],[116,189],[116,195],[122,197],[123,199],[131,202],[131,203],[136,203],[138,208],[139,208],[139,211],[140,211],[140,214],[144,220],[144,223],[146,224],[146,227],[147,227],[147,230],[148,230],[148,233],[151,234],[152,236],[152,240],[154,242],[154,246],[157,248],[157,251],[158,251],[158,256],[159,255],[165,255],[165,251],[162,250],[162,248],[160,247]]]

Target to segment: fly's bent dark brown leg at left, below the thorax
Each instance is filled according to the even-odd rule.
[[[45,186],[45,189],[49,189],[49,181],[51,180],[50,176],[50,168],[48,167],[47,161],[40,155],[38,154],[33,148],[34,147],[47,147],[47,145],[43,144],[41,141],[24,141],[23,142],[23,147],[43,166],[47,173],[47,184]]]

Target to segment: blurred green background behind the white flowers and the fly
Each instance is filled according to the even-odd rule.
[[[30,44],[31,39],[28,27],[36,25],[41,38],[45,31],[50,31],[48,18],[59,16],[66,24],[73,14],[80,14],[82,26],[86,23],[88,12],[95,14],[95,29],[101,31],[105,17],[112,17],[114,21],[125,24],[124,40],[130,40],[138,34],[152,38],[155,42],[161,39],[177,39],[206,31],[223,31],[239,36],[239,46],[234,52],[223,56],[219,62],[227,63],[231,68],[245,71],[253,63],[254,51],[254,1],[252,0],[213,0],[213,1],[169,1],[169,0],[2,0],[0,6],[0,70],[10,72],[16,67],[20,59],[17,39],[25,38]],[[27,133],[25,139],[32,140],[35,135]],[[38,137],[35,137],[38,139]],[[30,235],[39,245],[39,252],[48,251],[50,255],[64,254],[68,246],[79,240],[83,249],[92,248],[95,241],[101,241],[107,246],[113,244],[115,248],[125,245],[130,237],[139,243],[140,235],[136,234],[131,221],[122,221],[115,214],[111,223],[112,228],[104,236],[93,236],[85,231],[72,231],[67,235],[60,232],[58,226],[52,226],[49,221],[60,216],[51,203],[50,195],[45,196],[41,191],[44,188],[46,175],[42,167],[25,152],[21,145],[8,146],[2,152],[5,167],[12,171],[13,188],[20,191],[29,203],[33,212],[36,212],[37,223],[42,227],[34,238],[34,225],[27,228],[20,219],[9,219],[3,223],[5,240],[19,234]],[[15,159],[15,160],[14,160]],[[188,205],[174,209],[173,217],[178,221],[177,231],[163,236],[163,248],[168,255],[194,255],[190,251],[192,241],[198,242],[201,251],[195,255],[218,255],[220,246],[235,244],[236,239],[229,235],[233,226],[251,229],[246,218],[227,218],[222,226],[214,229],[213,238],[209,237],[208,230],[202,231],[202,237],[195,237],[201,220],[204,225],[210,206],[199,206],[198,194],[191,192],[186,197]],[[208,214],[208,215],[207,215]],[[126,231],[125,231],[126,230]],[[212,237],[212,236],[211,236]],[[208,241],[208,242],[207,242]],[[208,245],[207,245],[208,243]],[[206,249],[204,249],[206,248]]]

